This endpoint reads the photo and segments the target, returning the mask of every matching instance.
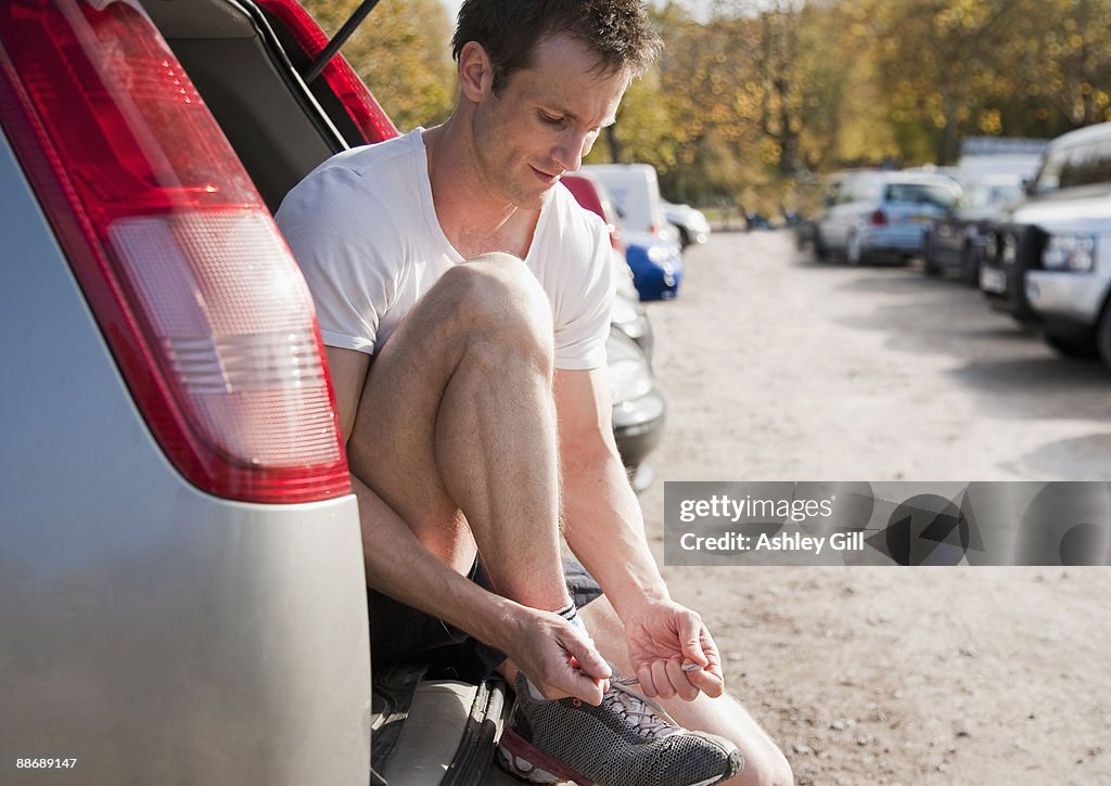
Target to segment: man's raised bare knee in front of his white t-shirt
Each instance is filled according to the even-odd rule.
[[[437,285],[446,290],[461,333],[498,351],[523,352],[551,365],[551,306],[521,260],[481,254],[452,268]]]

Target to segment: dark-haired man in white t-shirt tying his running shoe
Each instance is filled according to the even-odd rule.
[[[278,221],[328,344],[376,665],[497,668],[531,780],[718,783],[732,740],[738,783],[789,783],[648,548],[610,424],[608,239],[558,184],[658,46],[637,0],[467,0],[451,118],[334,157]],[[564,574],[561,524],[607,594],[581,619],[569,587],[597,585]]]

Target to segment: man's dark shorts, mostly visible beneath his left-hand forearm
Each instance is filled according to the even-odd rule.
[[[602,594],[594,577],[577,560],[563,560],[563,575],[574,605],[582,608]],[[476,558],[468,575],[486,590],[490,578]],[[428,676],[477,683],[486,679],[506,659],[506,654],[473,636],[394,601],[367,590],[370,606],[370,658],[376,671],[399,664],[428,664]]]

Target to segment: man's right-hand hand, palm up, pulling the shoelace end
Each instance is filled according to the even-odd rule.
[[[645,695],[678,695],[691,702],[699,693],[722,694],[721,655],[697,613],[671,601],[657,601],[624,624],[629,661]]]

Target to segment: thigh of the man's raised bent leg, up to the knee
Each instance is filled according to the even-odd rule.
[[[474,546],[437,460],[446,392],[460,369],[469,367],[476,343],[538,331],[546,331],[550,342],[550,316],[536,316],[541,306],[547,314],[543,291],[520,260],[498,254],[457,265],[406,314],[370,362],[348,440],[351,471],[422,543],[439,542],[442,547],[434,553],[456,555],[450,562],[460,572],[470,565]],[[498,402],[474,401],[473,406],[497,407]]]

